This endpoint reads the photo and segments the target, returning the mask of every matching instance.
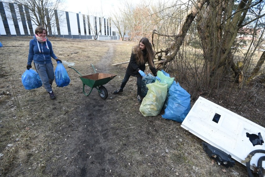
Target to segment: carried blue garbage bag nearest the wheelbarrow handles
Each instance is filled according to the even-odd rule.
[[[70,78],[63,64],[57,61],[57,66],[55,68],[55,83],[58,87],[65,87],[69,85]]]

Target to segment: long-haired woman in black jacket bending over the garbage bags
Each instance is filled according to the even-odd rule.
[[[142,77],[145,76],[145,64],[149,65],[149,68],[156,79],[160,80],[156,76],[156,67],[154,65],[155,52],[152,49],[152,45],[146,37],[143,37],[138,45],[133,46],[133,51],[131,54],[131,59],[126,70],[126,74],[122,81],[120,88],[114,91],[114,94],[123,92],[123,89],[128,82],[130,76],[137,77],[137,102],[141,103],[141,89],[142,89]]]

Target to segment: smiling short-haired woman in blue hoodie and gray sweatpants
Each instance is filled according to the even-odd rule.
[[[38,26],[35,29],[35,36],[30,40],[27,69],[32,68],[31,62],[33,60],[33,64],[40,76],[44,88],[49,93],[50,98],[55,99],[56,97],[52,90],[54,71],[51,57],[61,63],[62,61],[53,53],[52,44],[46,35],[47,30],[43,26]]]

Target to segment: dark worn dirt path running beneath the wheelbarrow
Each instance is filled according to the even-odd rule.
[[[113,44],[108,44],[109,50],[100,62],[96,63],[97,72],[109,73]],[[111,71],[110,71],[111,72]],[[119,111],[112,99],[113,86],[106,84],[109,98],[102,100],[93,90],[91,95],[84,97],[80,108],[71,115],[67,114],[62,128],[62,134],[69,135],[67,140],[63,137],[59,142],[66,142],[60,147],[56,163],[47,164],[46,173],[54,176],[108,176],[111,170],[119,171],[120,142],[118,130],[114,127],[119,122]],[[110,89],[110,90],[109,90]],[[117,137],[118,136],[118,137]],[[65,159],[67,157],[67,159]],[[125,173],[125,174],[124,174]],[[122,173],[129,176],[125,171]]]

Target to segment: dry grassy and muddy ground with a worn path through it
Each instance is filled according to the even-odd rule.
[[[109,96],[103,100],[96,89],[86,97],[77,72],[66,68],[71,82],[64,88],[54,82],[57,98],[51,100],[44,87],[26,90],[21,83],[30,39],[0,37],[0,176],[248,176],[238,162],[216,164],[202,140],[163,119],[163,111],[144,117],[135,78],[122,94],[112,94],[127,64],[111,64],[128,60],[135,43],[49,38],[58,58],[74,62],[82,75],[94,73],[90,63],[97,72],[117,74],[105,84]],[[265,125],[264,104],[236,113]]]

